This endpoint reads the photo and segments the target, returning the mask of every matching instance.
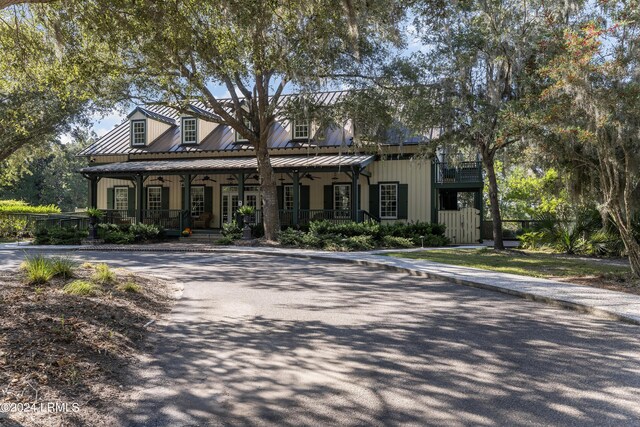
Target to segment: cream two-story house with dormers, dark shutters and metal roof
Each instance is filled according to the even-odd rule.
[[[324,105],[344,95],[316,94]],[[295,96],[285,95],[282,102]],[[206,120],[213,113],[203,104],[189,108],[193,115],[159,105],[138,107],[82,151],[90,162],[80,171],[90,182],[89,205],[106,211],[111,222],[155,223],[176,231],[219,229],[242,204],[255,207],[251,220],[260,222],[253,148],[229,126]],[[474,204],[471,220],[454,214],[461,212],[459,194],[481,194],[479,163],[448,167],[413,159],[424,141],[416,137],[395,135],[372,150],[354,143],[357,131],[351,120],[319,126],[286,115],[272,126],[269,149],[282,225],[320,219],[448,222],[454,241],[479,239],[480,206]]]

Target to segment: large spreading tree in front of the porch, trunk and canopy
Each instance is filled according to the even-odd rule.
[[[104,42],[126,63],[133,93],[185,110],[198,99],[246,138],[258,160],[265,236],[278,231],[276,181],[267,147],[287,85],[318,88],[319,76],[376,64],[401,37],[402,9],[387,1],[91,0],[42,7],[64,40]],[[212,87],[226,87],[222,102]]]

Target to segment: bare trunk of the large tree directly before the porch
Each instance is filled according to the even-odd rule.
[[[261,141],[256,149],[258,159],[258,174],[260,175],[260,192],[262,195],[262,223],[264,224],[264,237],[267,240],[276,240],[280,231],[280,215],[278,211],[278,190],[275,174],[269,158],[267,148],[267,135],[261,136]]]

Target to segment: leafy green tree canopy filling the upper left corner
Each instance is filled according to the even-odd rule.
[[[126,96],[113,72],[117,57],[99,41],[69,37],[62,45],[56,25],[46,24],[31,6],[0,9],[0,162]]]

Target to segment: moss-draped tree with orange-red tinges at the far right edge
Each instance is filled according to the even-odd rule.
[[[550,79],[543,126],[547,155],[600,200],[640,277],[640,3],[600,1],[565,34]]]

